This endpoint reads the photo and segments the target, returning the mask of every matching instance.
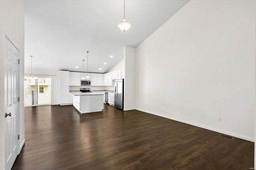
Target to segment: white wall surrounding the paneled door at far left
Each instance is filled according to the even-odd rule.
[[[24,0],[12,1],[12,0],[0,0],[0,34],[4,31],[10,36],[12,40],[19,46],[20,57],[20,146],[24,142],[24,94],[23,94],[23,75],[24,75]],[[3,63],[2,58],[2,37],[0,38],[0,63]],[[1,65],[2,67],[2,65]],[[0,69],[1,78],[1,97],[0,97],[0,110],[4,113],[4,73]],[[3,117],[0,117],[0,169],[4,169],[4,141],[3,138]]]

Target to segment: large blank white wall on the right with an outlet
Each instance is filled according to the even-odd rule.
[[[188,2],[136,49],[136,107],[254,141],[255,24],[252,0]]]

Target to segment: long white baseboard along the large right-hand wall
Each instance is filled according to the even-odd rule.
[[[208,127],[208,126],[200,125],[200,124],[193,123],[193,122],[190,122],[190,121],[185,121],[185,120],[182,120],[182,119],[177,119],[177,118],[174,118],[174,117],[154,113],[154,112],[151,112],[151,111],[146,111],[146,110],[142,110],[142,109],[136,109],[136,110],[143,111],[143,112],[146,112],[146,113],[150,113],[152,115],[157,115],[157,116],[160,116],[160,117],[165,117],[167,119],[172,119],[172,120],[179,121],[179,122],[182,122],[182,123],[186,123],[186,124],[189,124],[189,125],[201,127],[203,129],[207,129],[207,130],[210,130],[210,131],[215,131],[215,132],[222,133],[222,134],[225,134],[225,135],[230,135],[230,136],[233,136],[233,137],[244,139],[246,141],[254,142],[254,138],[251,138],[251,137],[246,137],[246,136],[239,135],[239,134],[236,134],[236,133],[231,133],[231,132],[228,132],[228,131],[222,131],[220,129],[215,129],[215,128],[212,128],[212,127]]]

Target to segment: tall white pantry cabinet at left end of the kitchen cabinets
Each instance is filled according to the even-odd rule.
[[[59,86],[60,105],[69,105],[69,71],[59,71]]]

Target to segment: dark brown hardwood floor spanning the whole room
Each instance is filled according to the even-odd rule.
[[[25,108],[13,170],[248,170],[254,143],[141,111],[80,115],[73,106]]]

